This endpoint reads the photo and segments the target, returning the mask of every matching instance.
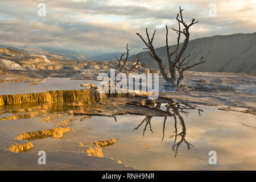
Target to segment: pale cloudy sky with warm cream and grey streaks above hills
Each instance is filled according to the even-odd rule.
[[[46,17],[38,15],[39,3],[46,5]],[[135,32],[144,35],[145,27],[156,30],[155,47],[164,46],[164,26],[177,27],[179,6],[187,22],[199,20],[191,39],[256,32],[256,0],[1,0],[0,44],[93,56],[124,51],[129,43],[136,53],[144,45]],[[169,40],[175,44],[174,32]]]

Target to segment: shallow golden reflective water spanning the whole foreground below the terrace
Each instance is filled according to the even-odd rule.
[[[166,110],[165,104],[160,108]],[[15,140],[16,135],[56,127],[56,123],[71,116],[64,115],[50,123],[43,122],[39,117],[1,121],[1,168],[125,169],[117,167],[119,164],[115,160],[120,160],[122,164],[141,170],[255,170],[255,116],[222,111],[213,106],[199,105],[197,108],[203,112],[199,114],[197,109],[192,109],[189,113],[182,113],[178,110],[180,115],[176,113],[176,121],[175,117],[141,115],[120,115],[116,122],[111,117],[73,117],[76,120],[68,126],[74,130],[65,133],[63,138],[30,140],[34,148],[19,154],[5,150],[15,142],[25,142]],[[97,140],[110,138],[116,138],[117,142],[102,147],[105,158],[82,153],[85,148],[80,146],[81,143],[86,147]],[[37,152],[41,150],[49,156],[46,168],[37,164]],[[209,151],[217,152],[217,165],[208,163]]]

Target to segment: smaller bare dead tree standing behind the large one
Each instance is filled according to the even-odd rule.
[[[126,45],[126,53],[121,53],[121,56],[119,57],[119,59],[117,58],[117,56],[115,56],[115,59],[117,59],[116,64],[117,64],[120,72],[124,72],[123,68],[125,68],[125,65],[128,63],[127,61],[128,61],[130,50],[131,49],[128,49],[128,44],[127,44]],[[125,56],[125,59],[123,59],[123,56]],[[135,63],[133,66],[131,66],[130,69],[128,69],[128,71],[127,71],[128,73],[133,71],[134,68],[142,67],[141,58],[138,55],[136,55],[136,57],[137,57],[137,63]]]

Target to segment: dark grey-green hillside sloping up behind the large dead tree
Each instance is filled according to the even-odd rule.
[[[164,43],[164,42],[163,42]],[[170,46],[174,50],[176,45]],[[156,48],[156,53],[167,64],[166,46]],[[207,62],[189,69],[201,72],[232,72],[256,74],[256,32],[254,34],[216,35],[191,40],[184,56],[191,53],[191,63],[199,61],[203,55]],[[142,63],[158,68],[156,61],[147,51],[139,53]],[[135,55],[129,58],[136,61]],[[181,57],[182,59],[182,57]]]

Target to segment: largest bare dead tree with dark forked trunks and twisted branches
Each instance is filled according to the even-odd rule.
[[[168,77],[168,73],[166,73],[166,71],[164,70],[162,59],[160,59],[160,57],[158,55],[156,55],[155,48],[153,46],[155,31],[154,31],[154,34],[152,35],[152,37],[150,38],[150,36],[148,35],[147,28],[146,28],[147,42],[146,42],[146,40],[143,39],[143,37],[139,33],[136,33],[142,39],[143,43],[146,45],[146,48],[144,48],[144,49],[150,50],[150,52],[149,52],[150,56],[153,59],[155,59],[156,62],[158,63],[161,75],[163,76],[164,80],[166,80],[168,85],[170,85],[172,88],[180,86],[180,82],[183,79],[184,71],[186,71],[189,68],[195,67],[196,65],[205,63],[205,61],[203,61],[204,57],[202,56],[201,60],[198,63],[188,65],[189,61],[186,61],[186,60],[188,59],[190,54],[188,56],[186,56],[183,60],[181,60],[181,56],[183,56],[183,53],[188,45],[189,28],[193,24],[198,23],[198,21],[196,22],[196,20],[193,18],[192,22],[190,24],[187,24],[183,19],[182,11],[183,10],[181,10],[181,8],[180,8],[179,14],[177,14],[177,16],[176,16],[176,20],[179,24],[179,29],[176,30],[176,29],[172,28],[172,30],[174,30],[177,33],[177,46],[176,46],[175,50],[172,52],[170,52],[170,49],[168,46],[168,27],[166,25],[166,51],[167,51],[167,59],[168,59],[168,64],[169,64],[168,70],[170,72],[171,77]],[[183,27],[182,30],[181,30],[181,26]],[[181,35],[185,36],[183,44],[180,44],[180,36]],[[179,78],[177,78],[177,79],[176,79],[176,69],[179,73]]]

